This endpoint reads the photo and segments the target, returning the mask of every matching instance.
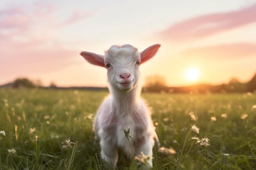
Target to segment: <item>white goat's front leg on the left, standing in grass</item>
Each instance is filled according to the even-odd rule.
[[[101,158],[114,168],[117,166],[118,152],[117,147],[110,144],[108,141],[101,140]]]

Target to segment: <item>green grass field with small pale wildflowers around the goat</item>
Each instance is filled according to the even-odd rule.
[[[111,169],[101,161],[92,131],[94,114],[106,95],[106,91],[0,89],[0,131],[5,132],[0,135],[0,170]],[[256,169],[256,94],[142,96],[152,107],[162,146],[177,152],[164,155],[154,148],[153,170]],[[189,133],[180,159],[193,124],[200,133]],[[210,146],[193,143],[195,135],[210,139]],[[65,150],[62,142],[67,137],[76,144]],[[122,155],[118,166],[136,169]]]

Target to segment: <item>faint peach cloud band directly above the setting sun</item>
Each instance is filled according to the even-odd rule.
[[[193,60],[203,58],[213,60],[230,60],[240,57],[255,57],[256,44],[237,43],[200,47],[195,49],[188,49],[182,53],[182,56]]]

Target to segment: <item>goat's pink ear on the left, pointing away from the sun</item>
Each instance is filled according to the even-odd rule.
[[[80,53],[80,55],[82,55],[85,58],[85,60],[87,60],[91,64],[101,66],[101,67],[105,67],[104,55],[90,53],[90,52],[87,52],[87,51],[82,51]]]

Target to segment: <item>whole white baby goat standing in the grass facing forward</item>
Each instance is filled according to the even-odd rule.
[[[160,45],[155,44],[141,53],[130,45],[111,46],[105,55],[83,51],[80,53],[91,64],[107,68],[110,96],[97,111],[94,119],[95,139],[100,139],[101,157],[114,167],[117,165],[117,148],[128,158],[132,152],[124,130],[130,128],[134,155],[143,152],[151,159],[145,169],[152,168],[152,148],[157,139],[150,110],[140,97],[139,65],[152,58]]]

